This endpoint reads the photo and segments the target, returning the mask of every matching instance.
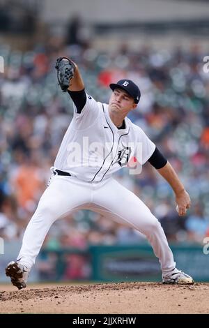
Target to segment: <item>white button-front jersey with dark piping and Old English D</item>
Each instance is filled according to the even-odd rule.
[[[143,165],[155,144],[127,117],[118,129],[109,117],[108,105],[86,94],[86,104],[74,116],[63,137],[54,168],[84,181],[100,182],[127,165],[131,158]]]

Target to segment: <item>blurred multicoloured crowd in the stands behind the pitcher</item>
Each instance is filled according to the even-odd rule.
[[[178,172],[192,198],[178,217],[173,191],[146,163],[141,174],[121,170],[116,178],[143,200],[160,220],[169,241],[202,243],[209,236],[209,73],[203,71],[201,45],[160,50],[121,44],[114,53],[91,44],[49,38],[33,50],[0,45],[0,234],[22,237],[50,177],[62,137],[72,119],[72,100],[56,80],[54,63],[77,62],[86,91],[107,103],[110,82],[134,80],[141,100],[129,114]],[[51,249],[85,249],[96,244],[137,244],[144,236],[90,211],[56,221],[45,239]],[[52,259],[53,260],[53,259]],[[77,259],[75,259],[76,261]]]

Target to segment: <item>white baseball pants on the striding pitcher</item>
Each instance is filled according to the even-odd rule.
[[[160,222],[139,197],[113,178],[89,183],[54,175],[24,233],[17,259],[31,268],[52,223],[78,209],[91,209],[145,234],[163,273],[176,267]]]

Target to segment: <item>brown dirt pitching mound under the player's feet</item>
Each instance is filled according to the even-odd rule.
[[[17,290],[0,286],[0,313],[209,313],[208,283],[106,283]],[[6,291],[6,290],[15,291]]]

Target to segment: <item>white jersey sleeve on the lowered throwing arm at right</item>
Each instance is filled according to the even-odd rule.
[[[152,142],[146,133],[137,126],[137,151],[135,155],[141,165],[144,165],[150,156],[152,156],[155,147],[154,142]]]

